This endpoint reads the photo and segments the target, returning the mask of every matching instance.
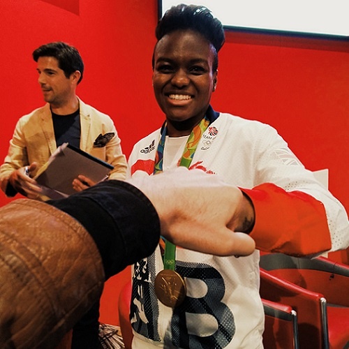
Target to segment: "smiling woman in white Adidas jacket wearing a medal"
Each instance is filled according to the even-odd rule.
[[[343,207],[305,170],[276,130],[211,106],[218,51],[224,43],[221,22],[205,7],[181,4],[163,15],[156,38],[153,85],[165,122],[133,147],[132,179],[151,174],[156,178],[178,166],[200,169],[213,178],[220,175],[239,186],[237,196],[246,208],[242,211],[248,212],[244,218],[237,212],[242,218],[239,232],[250,235],[262,251],[313,255],[347,246]],[[225,91],[230,94],[230,86]],[[182,174],[177,174],[179,181]],[[175,191],[172,183],[168,186]],[[203,193],[206,189],[193,195],[193,202],[179,202],[189,216],[195,216],[193,206]],[[173,195],[164,198],[161,207],[173,200]],[[217,233],[218,202],[212,198],[207,207],[206,218],[214,225],[208,230]],[[332,218],[327,223],[329,211]],[[216,235],[209,243],[207,221],[195,236],[185,214],[173,212],[170,225],[176,225],[179,216],[186,222],[183,239],[161,242],[151,256],[133,266],[133,348],[262,348],[259,252],[240,258],[222,253],[221,248],[230,250],[230,234]],[[185,244],[186,237],[195,243]],[[195,292],[199,288],[200,294]]]

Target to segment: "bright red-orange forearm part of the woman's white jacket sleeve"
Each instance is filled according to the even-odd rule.
[[[301,191],[286,192],[274,184],[242,189],[252,200],[256,248],[290,255],[312,255],[331,248],[325,207]]]

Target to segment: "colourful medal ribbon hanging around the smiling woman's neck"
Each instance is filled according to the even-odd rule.
[[[186,142],[186,147],[184,148],[183,154],[181,156],[181,161],[179,166],[184,166],[189,168],[191,161],[195,154],[195,150],[198,147],[202,134],[206,131],[209,126],[209,119],[205,117],[200,121],[198,125],[193,128],[189,138]],[[161,133],[160,141],[158,142],[158,149],[156,149],[154,174],[163,171],[163,151],[165,149],[165,139],[166,139],[167,127],[166,124],[163,127],[163,132]],[[176,260],[176,245],[172,242],[165,242],[165,254],[163,255],[163,267],[165,269],[174,270]]]

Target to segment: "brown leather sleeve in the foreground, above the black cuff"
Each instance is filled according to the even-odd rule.
[[[59,209],[29,199],[0,208],[0,348],[54,348],[96,302],[94,240]]]

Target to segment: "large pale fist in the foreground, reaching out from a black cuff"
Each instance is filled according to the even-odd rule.
[[[236,186],[184,167],[128,181],[147,195],[173,244],[214,255],[253,253],[255,242],[239,232],[253,223],[253,207]]]

